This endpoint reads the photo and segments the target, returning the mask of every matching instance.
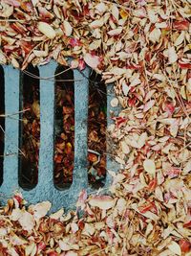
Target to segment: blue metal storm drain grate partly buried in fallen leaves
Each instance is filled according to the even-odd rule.
[[[54,73],[57,64],[52,61],[47,65],[39,66],[37,75],[39,80],[40,104],[40,148],[38,161],[37,184],[33,187],[22,186],[19,182],[22,161],[18,157],[21,154],[22,144],[19,134],[21,126],[19,118],[20,97],[23,99],[22,88],[20,86],[22,75],[11,66],[1,67],[1,108],[0,114],[5,113],[4,119],[0,119],[1,128],[5,128],[5,136],[1,138],[0,144],[0,193],[5,199],[12,196],[16,190],[20,191],[24,198],[30,203],[42,200],[50,200],[53,203],[52,211],[64,206],[66,209],[74,206],[76,198],[82,189],[88,193],[96,192],[96,188],[88,182],[87,172],[87,131],[88,131],[88,101],[89,101],[89,78],[91,70],[86,68],[82,72],[74,69],[74,170],[73,182],[68,187],[57,188],[53,184],[53,158],[54,158],[54,126],[55,126],[55,84]],[[2,75],[3,74],[3,75]],[[4,86],[2,85],[4,83]],[[5,88],[3,88],[5,87]],[[4,91],[5,89],[5,91]],[[110,105],[113,94],[113,86],[107,85],[107,125],[111,124],[111,111],[117,111]],[[5,93],[5,97],[4,97]],[[32,91],[29,93],[32,93]],[[2,96],[3,95],[3,96]],[[5,99],[3,99],[5,98]],[[4,100],[4,101],[3,101]],[[5,102],[5,105],[3,104]],[[21,129],[20,129],[21,128]],[[2,132],[1,132],[2,133]],[[4,140],[4,143],[2,143]],[[2,155],[3,154],[3,155]],[[4,157],[3,157],[4,156]],[[3,160],[2,160],[3,159]],[[22,167],[23,169],[29,166]],[[106,169],[117,171],[117,163],[107,155]],[[21,178],[22,179],[22,178]],[[110,175],[106,174],[103,188],[107,188],[111,183]]]

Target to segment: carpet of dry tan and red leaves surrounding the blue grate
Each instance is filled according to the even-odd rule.
[[[73,57],[115,82],[123,106],[108,128],[112,196],[82,191],[74,212],[46,217],[50,202],[17,194],[1,209],[1,254],[191,255],[190,0],[2,0],[0,16],[1,63]]]

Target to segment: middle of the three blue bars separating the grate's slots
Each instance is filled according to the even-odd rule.
[[[40,77],[54,75],[56,63],[51,62],[39,68]],[[38,187],[53,187],[53,117],[54,117],[54,81],[40,81],[40,159],[38,172]]]

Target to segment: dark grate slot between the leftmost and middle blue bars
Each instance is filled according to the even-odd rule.
[[[37,185],[40,147],[40,87],[37,67],[29,65],[20,82],[19,171],[18,182],[24,190]]]

